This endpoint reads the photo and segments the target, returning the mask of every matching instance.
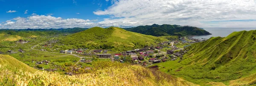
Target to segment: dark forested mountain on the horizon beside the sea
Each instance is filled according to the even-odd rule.
[[[204,29],[200,29],[192,26],[179,26],[179,25],[157,25],[151,26],[137,26],[133,28],[125,28],[131,32],[137,32],[141,34],[153,35],[153,36],[186,36],[186,35],[209,35],[210,33]]]

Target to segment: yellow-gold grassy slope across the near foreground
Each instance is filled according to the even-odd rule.
[[[27,70],[34,69],[9,55],[0,55],[1,86],[196,86],[159,71],[125,63],[96,63],[92,70],[78,76]]]

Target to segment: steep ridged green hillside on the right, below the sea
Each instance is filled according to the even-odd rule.
[[[166,67],[160,70],[172,70],[168,73],[192,83],[206,85],[209,82],[221,82],[229,85],[230,80],[256,73],[255,50],[256,31],[233,32],[227,37],[212,37],[193,44],[180,63],[158,65]],[[255,85],[255,80],[248,82]]]

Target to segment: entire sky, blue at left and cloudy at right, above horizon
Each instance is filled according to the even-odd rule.
[[[256,28],[256,0],[0,0],[0,29]]]

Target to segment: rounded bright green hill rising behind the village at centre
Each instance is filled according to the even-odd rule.
[[[73,48],[112,49],[123,51],[156,45],[157,43],[164,41],[168,40],[161,37],[129,32],[117,27],[110,27],[107,29],[94,27],[83,32],[60,38],[59,43]]]

